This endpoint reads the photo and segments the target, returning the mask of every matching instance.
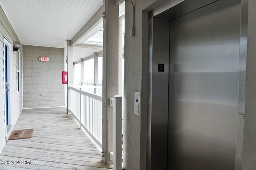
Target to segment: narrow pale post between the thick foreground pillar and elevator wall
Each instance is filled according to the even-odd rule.
[[[119,34],[118,34],[118,95],[122,96],[122,59],[123,59],[123,22],[124,15],[119,17]]]

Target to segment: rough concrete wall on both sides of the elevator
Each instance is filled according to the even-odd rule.
[[[128,170],[146,170],[148,11],[167,1],[177,0],[133,0],[135,37],[130,37],[132,6],[129,1],[125,4],[124,168]],[[249,2],[244,170],[256,169],[256,0]],[[134,115],[135,91],[141,92],[140,116]]]

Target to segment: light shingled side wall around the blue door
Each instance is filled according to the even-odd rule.
[[[0,151],[2,150],[6,142],[6,113],[5,113],[5,77],[4,77],[4,36],[13,45],[15,41],[20,42],[18,36],[16,35],[12,25],[10,24],[8,18],[6,17],[2,7],[0,7]],[[21,53],[21,52],[20,52]],[[11,122],[14,125],[18,119],[18,116],[22,110],[22,61],[20,55],[20,92],[17,92],[17,56],[16,52],[11,49],[10,53],[12,59],[11,67]]]

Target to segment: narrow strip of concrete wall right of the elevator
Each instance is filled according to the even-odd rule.
[[[256,169],[256,0],[249,0],[243,170]]]

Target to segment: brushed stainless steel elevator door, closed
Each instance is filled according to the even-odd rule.
[[[240,1],[170,21],[169,170],[234,170]]]

